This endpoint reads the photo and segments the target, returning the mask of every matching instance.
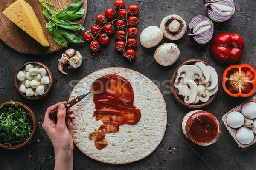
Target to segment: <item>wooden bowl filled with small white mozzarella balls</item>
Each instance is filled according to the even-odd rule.
[[[27,62],[15,74],[15,86],[26,99],[42,99],[52,89],[50,69],[41,62]]]

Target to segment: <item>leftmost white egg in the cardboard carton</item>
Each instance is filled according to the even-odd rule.
[[[226,122],[229,127],[239,128],[244,124],[244,115],[237,111],[230,112],[227,115]]]

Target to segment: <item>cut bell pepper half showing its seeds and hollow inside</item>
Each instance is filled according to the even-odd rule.
[[[230,65],[223,73],[222,87],[233,97],[249,97],[256,91],[256,70],[249,64]]]

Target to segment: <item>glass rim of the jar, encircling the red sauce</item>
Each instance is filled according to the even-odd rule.
[[[193,120],[195,120],[196,117],[202,116],[202,115],[209,116],[212,120],[214,120],[215,125],[217,126],[216,136],[211,141],[209,141],[209,142],[198,142],[198,141],[196,141],[192,137],[191,132],[190,132],[190,127],[192,125]],[[193,143],[201,145],[201,146],[208,146],[210,144],[213,144],[214,142],[216,142],[218,140],[218,138],[221,135],[221,125],[220,125],[220,122],[218,121],[218,119],[212,113],[209,113],[207,111],[198,111],[198,112],[193,113],[191,116],[189,116],[189,119],[186,122],[186,127],[185,128],[186,128],[186,135],[187,135],[187,137]]]

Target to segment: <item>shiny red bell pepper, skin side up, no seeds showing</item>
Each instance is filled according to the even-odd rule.
[[[244,40],[239,34],[221,33],[211,40],[210,56],[215,62],[233,64],[241,59]]]

